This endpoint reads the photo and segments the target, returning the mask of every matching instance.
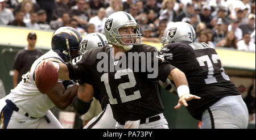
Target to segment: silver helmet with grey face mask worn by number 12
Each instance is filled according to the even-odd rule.
[[[134,27],[135,33],[129,35],[120,35],[119,28],[123,27]],[[141,31],[139,29],[139,24],[137,24],[133,16],[127,12],[119,11],[111,14],[108,19],[106,19],[104,31],[109,44],[122,46],[127,51],[133,48],[133,45],[141,44]],[[123,38],[130,38],[132,43],[123,43]],[[122,45],[121,43],[125,45]]]

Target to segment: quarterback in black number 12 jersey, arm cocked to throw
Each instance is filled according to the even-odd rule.
[[[168,128],[163,116],[158,80],[174,80],[180,95],[176,107],[187,106],[188,100],[200,99],[189,94],[187,79],[182,71],[162,62],[163,58],[155,47],[141,44],[139,25],[130,14],[120,11],[110,15],[105,22],[105,36],[113,48],[94,48],[86,51],[76,63],[56,65],[60,79],[80,79],[84,82],[78,90],[78,97],[84,95],[83,107],[86,103],[89,106],[94,95],[93,87],[97,87],[109,99],[113,116],[118,122],[116,128]],[[134,53],[142,55],[129,57]],[[148,68],[155,64],[153,70]]]

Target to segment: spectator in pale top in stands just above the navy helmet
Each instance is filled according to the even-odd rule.
[[[71,17],[77,20],[80,27],[85,28],[90,18],[88,13],[85,11],[85,7],[86,7],[85,0],[77,1],[76,6],[77,6],[77,9],[71,10]]]

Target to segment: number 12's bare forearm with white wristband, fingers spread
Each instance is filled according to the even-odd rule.
[[[201,98],[199,96],[190,94],[187,78],[185,74],[179,69],[172,69],[168,75],[168,78],[174,80],[175,86],[177,87],[177,94],[180,97],[177,105],[174,107],[175,109],[180,108],[181,105],[185,105],[185,107],[187,107],[187,101]]]

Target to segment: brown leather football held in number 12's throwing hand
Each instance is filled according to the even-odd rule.
[[[50,61],[44,61],[36,68],[35,83],[42,94],[51,91],[57,84],[57,68]]]

